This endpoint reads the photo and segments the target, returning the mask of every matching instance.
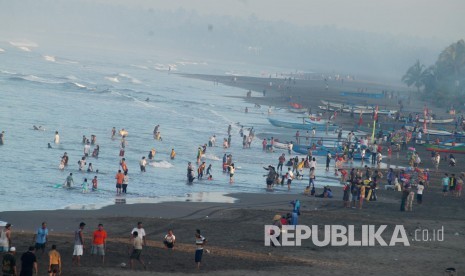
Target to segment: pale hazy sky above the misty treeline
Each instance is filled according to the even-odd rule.
[[[465,37],[464,0],[98,0],[154,9],[184,8],[199,14],[282,20],[299,25],[337,27],[437,37]]]

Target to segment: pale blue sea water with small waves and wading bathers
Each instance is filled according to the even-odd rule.
[[[243,89],[214,85],[211,81],[185,78],[181,73],[231,72],[260,76],[263,68],[245,64],[211,64],[205,61],[131,60],[130,57],[69,58],[42,52],[40,47],[1,44],[0,52],[0,210],[92,209],[118,202],[140,203],[161,200],[208,200],[225,193],[267,193],[264,166],[277,165],[279,155],[262,151],[261,139],[293,133],[271,126],[267,107],[255,108],[240,98]],[[70,55],[72,56],[72,55]],[[274,70],[274,69],[273,69]],[[240,81],[240,77],[238,77]],[[253,96],[261,96],[254,91]],[[145,101],[149,98],[149,101]],[[250,110],[244,112],[245,107]],[[273,109],[274,116],[295,118],[285,110]],[[153,139],[160,125],[162,141]],[[232,125],[232,147],[221,147]],[[33,125],[43,131],[33,130]],[[254,127],[257,138],[251,149],[242,149],[240,125]],[[127,195],[116,196],[115,174],[119,169],[120,138],[111,139],[111,129],[128,131],[125,158],[129,168]],[[55,131],[60,143],[53,143]],[[246,131],[247,133],[247,131]],[[78,170],[83,156],[82,136],[96,135],[98,158],[89,157],[99,173]],[[212,135],[217,146],[207,148],[204,161],[212,164],[213,180],[186,181],[187,163],[195,164],[197,148]],[[47,148],[50,143],[52,148]],[[94,146],[91,147],[91,150]],[[139,161],[150,149],[156,156],[141,173]],[[176,159],[170,159],[175,149]],[[69,163],[59,169],[68,153]],[[237,170],[234,183],[222,172],[222,157],[232,154]],[[287,153],[286,153],[287,155]],[[295,153],[293,154],[295,155]],[[289,157],[289,156],[287,156]],[[324,172],[324,158],[318,159],[317,185],[336,184]],[[73,173],[76,189],[61,188]],[[98,177],[98,191],[82,193],[84,178],[89,185]],[[321,177],[320,177],[321,176]],[[301,193],[308,180],[294,180],[290,193]],[[288,193],[277,187],[276,193]],[[193,196],[195,195],[195,196]],[[187,196],[187,197],[186,197]],[[220,201],[227,201],[224,198]]]

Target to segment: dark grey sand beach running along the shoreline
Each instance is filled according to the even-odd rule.
[[[269,79],[242,78],[231,82],[230,76],[189,76],[206,81],[217,80],[219,83],[244,89],[243,97],[251,103],[261,105],[284,106],[280,91],[267,89],[266,97],[246,98],[251,89],[261,93]],[[344,89],[356,91],[357,87],[405,91],[402,87],[382,86],[375,83],[344,83]],[[338,97],[339,86],[332,86],[325,91],[323,81],[297,81],[291,89],[292,97],[298,102],[316,108],[321,99],[343,101]],[[367,100],[372,104],[374,100]],[[383,100],[380,106],[396,107],[394,100]],[[407,110],[421,111],[423,103],[412,100]],[[341,118],[336,123],[344,127],[352,124],[351,119]],[[429,152],[419,147],[424,160],[422,167],[432,167]],[[460,157],[459,157],[460,162]],[[392,165],[405,166],[406,160],[394,158]],[[465,271],[463,259],[465,251],[465,232],[463,221],[465,203],[463,198],[444,197],[440,187],[443,172],[459,173],[463,166],[448,167],[442,163],[439,171],[433,173],[431,185],[425,190],[423,204],[414,204],[413,212],[400,212],[401,193],[385,191],[385,180],[378,190],[378,201],[367,202],[362,210],[343,208],[342,188],[334,188],[334,198],[324,199],[295,194],[232,194],[235,203],[214,202],[163,202],[156,204],[116,204],[98,210],[55,210],[0,212],[0,220],[13,224],[12,243],[19,253],[32,245],[33,230],[47,221],[50,229],[48,248],[56,244],[63,259],[62,275],[134,275],[120,264],[129,263],[129,235],[138,221],[144,223],[148,246],[144,248],[143,258],[147,271],[137,266],[137,275],[171,275],[209,273],[212,275],[443,275],[448,267],[454,267],[460,273]],[[259,172],[262,173],[262,172]],[[330,176],[331,173],[328,173]],[[293,189],[302,190],[305,181],[296,180]],[[264,183],[265,186],[265,183]],[[321,193],[321,189],[317,191]],[[299,224],[318,225],[354,225],[356,230],[361,225],[387,225],[388,230],[382,237],[389,241],[395,225],[403,225],[410,240],[410,246],[349,247],[349,246],[315,246],[311,241],[303,241],[300,247],[264,246],[264,225],[272,224],[276,214],[291,212],[290,201],[301,201]],[[82,267],[71,266],[73,250],[73,231],[79,222],[86,222],[85,240],[90,247],[90,236],[98,223],[103,223],[108,232],[106,263],[102,266],[98,259],[91,258],[88,250],[84,252]],[[177,237],[174,251],[163,248],[162,239],[168,229],[173,229]],[[53,230],[52,230],[53,229]],[[194,234],[201,229],[208,239],[200,271],[194,263]],[[444,240],[430,240],[432,233],[444,229]],[[425,231],[423,231],[425,230]],[[355,237],[360,233],[356,231]],[[429,233],[425,241],[417,241],[415,234]],[[322,237],[322,233],[319,232]],[[47,257],[39,256],[39,275],[46,275]]]

